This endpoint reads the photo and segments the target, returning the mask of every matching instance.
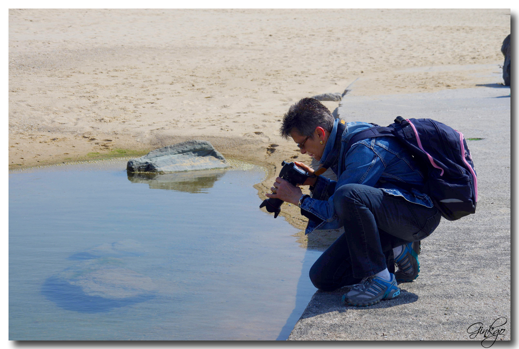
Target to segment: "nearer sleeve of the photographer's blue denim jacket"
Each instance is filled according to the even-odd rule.
[[[344,159],[345,170],[340,174],[337,182],[319,176],[314,188],[314,193],[317,190],[318,195],[314,194],[314,197],[303,201],[302,210],[326,222],[331,222],[337,219],[333,204],[333,192],[336,188],[345,184],[375,186],[385,170],[385,165],[373,148],[366,143],[361,141],[348,150]],[[322,199],[319,200],[318,198]]]

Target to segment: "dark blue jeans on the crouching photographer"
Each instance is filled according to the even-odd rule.
[[[344,234],[310,268],[313,285],[325,291],[394,272],[393,248],[426,238],[440,224],[436,208],[361,184],[336,189],[333,203]]]

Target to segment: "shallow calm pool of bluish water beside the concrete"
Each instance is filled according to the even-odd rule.
[[[9,173],[10,340],[284,340],[320,253],[258,209],[260,168]]]

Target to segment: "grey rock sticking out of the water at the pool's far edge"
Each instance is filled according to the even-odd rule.
[[[187,141],[150,151],[128,161],[128,172],[180,172],[228,167],[223,155],[208,141]]]

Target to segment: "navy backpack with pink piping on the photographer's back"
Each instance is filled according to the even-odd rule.
[[[345,151],[366,138],[393,136],[425,169],[427,194],[442,216],[456,220],[475,213],[477,177],[463,134],[432,119],[397,117],[387,127],[375,127],[354,134]]]

